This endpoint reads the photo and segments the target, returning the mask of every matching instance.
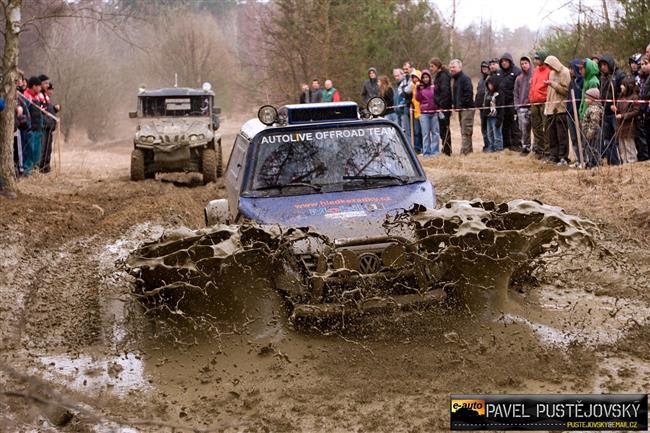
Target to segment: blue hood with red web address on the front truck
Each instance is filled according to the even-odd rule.
[[[239,212],[247,219],[283,227],[311,227],[336,239],[383,236],[387,214],[415,204],[435,207],[429,181],[355,191],[281,197],[239,199]]]

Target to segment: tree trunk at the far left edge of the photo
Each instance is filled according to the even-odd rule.
[[[1,0],[5,19],[5,51],[2,56],[4,76],[0,97],[5,109],[0,112],[0,183],[9,191],[16,191],[14,169],[14,116],[16,106],[16,77],[18,75],[18,34],[20,32],[20,5],[22,0]]]

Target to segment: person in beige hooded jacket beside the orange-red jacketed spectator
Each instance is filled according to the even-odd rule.
[[[571,73],[555,56],[548,56],[544,63],[551,68],[544,106],[544,114],[548,117],[549,160],[566,166],[569,164],[569,136],[565,101],[571,86]]]

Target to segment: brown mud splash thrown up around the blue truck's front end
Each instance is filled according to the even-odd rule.
[[[250,318],[268,309],[264,317],[277,320],[279,304],[260,303],[272,290],[288,300],[293,318],[401,308],[439,301],[440,292],[472,308],[500,308],[511,281],[529,276],[551,252],[592,246],[597,230],[527,200],[451,201],[387,216],[384,228],[380,252],[377,242],[329,239],[308,228],[181,229],[138,248],[127,265],[140,299],[172,313],[209,306],[222,318]],[[382,261],[376,272],[364,272],[360,258],[368,251]]]

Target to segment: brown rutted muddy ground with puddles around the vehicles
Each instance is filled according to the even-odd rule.
[[[240,124],[225,125],[227,150]],[[128,252],[201,227],[224,186],[130,182],[130,150],[69,145],[58,175],[0,199],[0,431],[431,432],[448,430],[450,393],[650,389],[650,163],[424,160],[441,202],[538,199],[596,222],[597,247],[548,257],[499,311],[446,305],[322,333],[281,311],[265,323],[145,311]]]

